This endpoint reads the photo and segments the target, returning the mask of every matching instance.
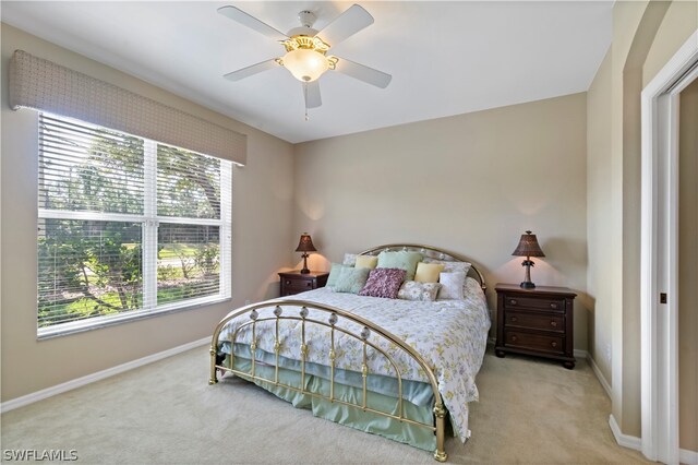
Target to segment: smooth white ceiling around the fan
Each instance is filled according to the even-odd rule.
[[[284,49],[216,12],[233,4],[288,32],[348,1],[5,1],[2,21],[297,143],[583,92],[611,44],[613,1],[360,1],[375,23],[332,53],[393,75],[381,90],[336,72],[304,120],[301,84],[276,68],[222,74]],[[50,57],[44,57],[49,58]]]

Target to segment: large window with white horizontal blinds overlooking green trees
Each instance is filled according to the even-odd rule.
[[[232,163],[39,115],[38,334],[230,297]]]

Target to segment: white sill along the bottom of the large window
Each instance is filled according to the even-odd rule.
[[[100,330],[122,323],[131,323],[147,318],[163,317],[165,314],[178,313],[181,311],[196,310],[214,303],[230,301],[231,297],[205,297],[190,300],[185,305],[177,303],[159,307],[157,310],[136,310],[115,315],[96,317],[88,320],[57,324],[55,326],[39,327],[37,341],[51,339],[53,337],[68,336],[70,334],[84,333],[86,331]]]

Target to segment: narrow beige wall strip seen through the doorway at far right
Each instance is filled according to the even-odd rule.
[[[678,141],[679,446],[698,451],[698,80],[681,93]]]

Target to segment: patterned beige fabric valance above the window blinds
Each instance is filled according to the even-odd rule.
[[[201,154],[246,162],[246,135],[177,108],[15,50],[10,106],[62,115]]]

